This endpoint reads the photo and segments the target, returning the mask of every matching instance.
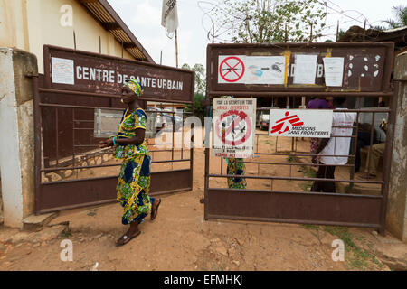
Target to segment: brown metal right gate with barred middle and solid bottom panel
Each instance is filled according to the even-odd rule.
[[[323,63],[324,57],[344,58],[342,87],[328,88],[323,75],[320,77],[316,75],[314,85],[293,84],[292,64],[295,64],[296,54],[317,54],[318,65]],[[236,79],[239,79],[239,71],[233,76],[232,81],[235,83],[220,81],[218,78],[219,75],[222,76],[221,61],[239,55],[285,56],[284,84],[238,83],[240,81]],[[230,70],[233,67],[231,65]],[[382,234],[384,233],[397,95],[390,82],[393,68],[393,42],[209,44],[207,68],[208,112],[212,99],[222,95],[235,98],[346,97],[347,101],[354,103],[355,109],[336,109],[335,111],[355,112],[357,121],[350,136],[352,145],[351,153],[348,155],[349,162],[338,166],[336,179],[315,176],[311,168],[324,164],[311,163],[310,157],[316,154],[310,154],[308,143],[305,144],[304,140],[292,139],[291,142],[291,139],[286,138],[286,140],[289,139],[287,142],[284,138],[271,137],[258,131],[255,138],[255,158],[244,160],[247,168],[244,176],[248,182],[247,189],[229,189],[225,188],[226,178],[240,176],[224,173],[223,159],[213,158],[210,148],[206,148],[205,219],[356,226],[378,228]],[[225,70],[229,69],[226,67]],[[390,106],[364,109],[361,108],[362,97],[387,99]],[[386,116],[389,122],[383,154],[383,174],[379,175],[378,179],[359,180],[355,178],[355,151],[361,130],[360,125],[364,122],[373,124],[370,128],[372,136],[370,145],[367,146],[368,156],[365,162],[369,171],[372,166],[374,124],[380,123],[383,116]],[[211,164],[213,162],[216,164]],[[219,178],[221,183],[216,181]],[[310,191],[310,183],[315,181],[335,182],[336,191],[339,192]],[[359,186],[364,186],[364,190],[359,190]]]

